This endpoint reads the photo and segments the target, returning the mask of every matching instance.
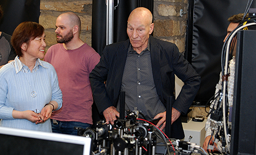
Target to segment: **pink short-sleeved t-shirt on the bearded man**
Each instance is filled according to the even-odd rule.
[[[62,108],[51,119],[92,124],[92,89],[89,73],[100,61],[100,55],[88,44],[66,50],[63,44],[52,45],[44,57],[57,72],[63,94]]]

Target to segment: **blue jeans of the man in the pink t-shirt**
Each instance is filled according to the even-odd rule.
[[[81,123],[81,122],[64,122],[64,121],[57,121],[57,124],[54,124],[51,119],[51,127],[52,133],[62,133],[62,134],[71,134],[77,135],[76,129],[74,127],[82,127],[86,129],[86,127],[91,127],[92,125],[88,123]]]

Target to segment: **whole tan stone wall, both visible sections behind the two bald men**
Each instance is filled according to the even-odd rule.
[[[180,17],[179,10],[187,10],[187,5],[188,0],[155,0],[154,6],[153,36],[174,42],[180,52],[185,51],[187,14]],[[56,18],[67,11],[72,11],[81,18],[80,37],[87,44],[92,44],[92,0],[41,0],[40,11],[39,24],[46,29],[46,49],[57,43],[54,32]]]

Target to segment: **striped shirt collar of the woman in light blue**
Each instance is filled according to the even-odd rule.
[[[14,65],[14,68],[15,68],[16,73],[18,73],[18,72],[20,72],[20,71],[25,72],[25,73],[31,72],[31,71],[29,70],[29,68],[27,67],[27,65],[25,65],[24,63],[22,63],[22,62],[20,61],[20,59],[19,59],[18,56],[15,57],[13,65]],[[36,64],[35,64],[35,66],[33,67],[32,72],[36,72],[36,71],[39,69],[39,65],[41,65],[42,67],[44,67],[44,65],[43,65],[43,63],[42,63],[42,60],[36,59]],[[46,68],[46,67],[44,67],[44,68]]]

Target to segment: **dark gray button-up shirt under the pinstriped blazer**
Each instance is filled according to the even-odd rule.
[[[148,45],[138,54],[130,45],[121,85],[121,91],[125,91],[125,110],[133,111],[137,107],[148,120],[165,111],[157,95],[149,50]]]

